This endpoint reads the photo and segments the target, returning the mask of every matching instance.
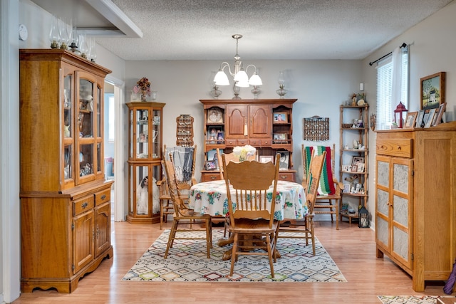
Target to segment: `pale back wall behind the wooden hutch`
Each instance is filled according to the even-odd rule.
[[[241,54],[242,55],[242,54]],[[227,59],[232,64],[234,60]],[[212,79],[221,61],[127,61],[125,78],[125,100],[130,98],[130,89],[143,76],[151,81],[152,90],[157,90],[157,102],[166,103],[163,110],[163,142],[175,145],[176,117],[190,114],[195,118],[194,142],[199,147],[197,179],[203,167],[203,108],[200,99],[212,99]],[[301,180],[301,143],[303,140],[303,118],[318,115],[329,117],[330,140],[327,142],[304,142],[306,145],[339,146],[339,105],[358,91],[361,82],[361,61],[249,61],[259,68],[263,80],[259,98],[279,98],[276,90],[279,71],[286,75],[285,98],[297,98],[293,111],[294,165],[298,169],[296,180]],[[231,99],[232,86],[220,87],[219,99]],[[242,88],[242,99],[253,99],[251,88]],[[126,107],[125,107],[126,108]]]

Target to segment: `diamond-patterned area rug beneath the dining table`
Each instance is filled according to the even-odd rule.
[[[197,234],[199,232],[196,232]],[[229,277],[231,261],[222,261],[229,246],[217,246],[223,231],[213,229],[214,246],[211,258],[206,257],[205,240],[175,240],[164,259],[170,230],[165,230],[152,243],[122,280],[126,281],[178,281],[178,282],[346,282],[346,278],[316,239],[316,255],[304,239],[279,239],[277,248],[281,258],[274,263],[271,278],[269,259],[266,256],[239,256],[234,274]],[[182,234],[195,234],[185,232]],[[204,232],[203,232],[204,234]],[[293,233],[287,233],[293,235]]]

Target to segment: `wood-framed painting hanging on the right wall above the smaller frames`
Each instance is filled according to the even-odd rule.
[[[420,83],[421,110],[439,108],[445,103],[445,72],[420,78]]]

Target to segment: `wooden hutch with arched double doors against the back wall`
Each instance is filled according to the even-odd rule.
[[[281,154],[279,179],[295,181],[293,168],[293,104],[296,99],[199,100],[204,108],[204,156],[214,149],[232,152],[251,145],[257,156]],[[212,159],[207,159],[212,160]],[[261,159],[259,159],[261,161]],[[202,182],[219,179],[218,170],[202,170]]]

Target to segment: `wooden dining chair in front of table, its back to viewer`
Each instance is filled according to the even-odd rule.
[[[225,154],[222,162],[227,185],[229,232],[233,234],[229,276],[233,275],[238,256],[263,255],[269,258],[274,278],[279,227],[278,221],[274,220],[274,210],[280,155],[276,155],[275,165],[257,161],[228,162]],[[268,192],[271,185],[272,192]]]

